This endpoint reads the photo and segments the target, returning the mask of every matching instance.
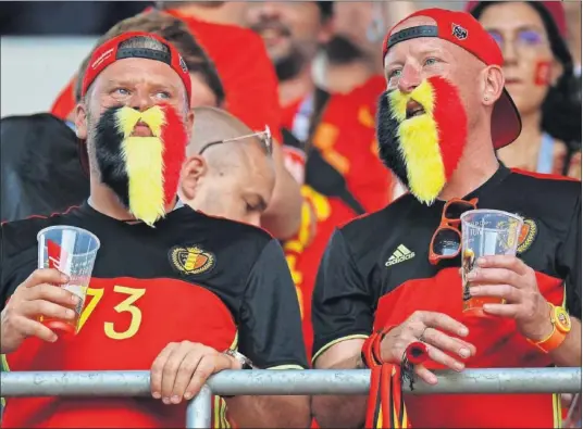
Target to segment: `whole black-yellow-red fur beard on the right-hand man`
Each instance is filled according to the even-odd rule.
[[[419,201],[431,205],[458,166],[468,137],[457,88],[430,77],[409,93],[386,91],[376,127],[381,160]]]

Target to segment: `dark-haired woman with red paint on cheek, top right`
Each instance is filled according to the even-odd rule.
[[[561,2],[470,2],[498,41],[522,134],[498,151],[510,167],[581,178],[581,100]]]

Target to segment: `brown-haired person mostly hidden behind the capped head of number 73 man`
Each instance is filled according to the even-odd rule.
[[[162,36],[181,51],[190,72],[193,97],[190,108],[198,105],[220,106],[224,103],[225,91],[212,60],[188,31],[188,27],[178,18],[160,12],[140,13],[119,22],[99,38],[96,46],[125,31],[147,31]],[[79,72],[61,91],[51,109],[59,117],[74,121],[75,104],[80,101],[80,81],[77,77],[85,75],[89,55],[79,67]]]

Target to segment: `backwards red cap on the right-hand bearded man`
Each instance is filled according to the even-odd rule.
[[[410,27],[397,33],[398,25],[413,16],[426,16],[436,25]],[[418,37],[438,37],[472,53],[486,65],[503,66],[503,52],[496,40],[468,12],[448,11],[445,9],[424,9],[417,11],[397,23],[386,35],[383,42],[383,59],[388,50],[398,42]],[[492,116],[492,139],[494,148],[500,149],[514,141],[522,130],[522,122],[514,102],[504,89],[503,94],[494,104]]]

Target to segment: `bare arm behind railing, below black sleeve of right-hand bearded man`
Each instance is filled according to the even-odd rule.
[[[330,369],[364,369],[360,356],[343,361]],[[312,413],[321,428],[360,428],[364,425],[367,396],[312,396]]]

